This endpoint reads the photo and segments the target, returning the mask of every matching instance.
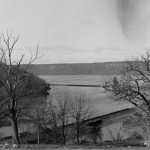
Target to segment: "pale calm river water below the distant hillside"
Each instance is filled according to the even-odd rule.
[[[56,75],[56,76],[40,76],[50,84],[77,84],[77,85],[100,85],[104,80],[112,79],[112,76],[99,75]],[[96,107],[97,115],[104,115],[115,112],[121,109],[132,107],[126,102],[114,102],[106,93],[101,92],[98,87],[66,87],[66,86],[51,86],[51,93],[57,93],[61,90],[69,90],[72,92],[81,92],[91,99],[91,102]]]

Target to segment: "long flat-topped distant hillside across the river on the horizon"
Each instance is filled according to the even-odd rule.
[[[37,75],[111,75],[120,74],[124,62],[34,64],[29,72]]]

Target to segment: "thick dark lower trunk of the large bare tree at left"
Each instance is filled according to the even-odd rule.
[[[11,126],[12,126],[12,130],[13,130],[13,144],[20,144],[19,141],[19,135],[18,135],[18,124],[17,124],[17,118],[12,117],[11,119]]]

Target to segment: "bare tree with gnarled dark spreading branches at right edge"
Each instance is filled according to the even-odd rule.
[[[127,101],[140,108],[150,120],[150,52],[127,61],[120,77],[105,81],[102,87],[116,101]],[[148,125],[148,128],[150,126]],[[150,140],[150,138],[149,138]]]

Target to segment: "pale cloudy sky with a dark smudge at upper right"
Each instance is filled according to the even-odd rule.
[[[35,63],[120,61],[150,47],[150,0],[0,0],[0,32]]]

